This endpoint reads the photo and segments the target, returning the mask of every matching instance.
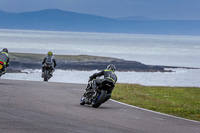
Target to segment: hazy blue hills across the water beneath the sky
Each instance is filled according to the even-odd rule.
[[[0,29],[200,35],[200,20],[119,20],[57,9],[0,11]]]

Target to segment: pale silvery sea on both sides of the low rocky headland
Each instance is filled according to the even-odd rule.
[[[0,29],[0,49],[55,55],[95,55],[139,61],[147,65],[200,68],[200,36],[60,32]],[[117,66],[116,66],[117,68]],[[173,72],[118,72],[118,83],[200,87],[200,69]],[[3,79],[42,81],[41,70],[6,73]],[[56,70],[49,82],[87,84],[98,70]],[[62,76],[61,76],[62,75]]]

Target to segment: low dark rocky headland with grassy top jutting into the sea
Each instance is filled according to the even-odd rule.
[[[25,69],[41,69],[41,62],[45,55],[29,53],[10,53],[10,66],[7,72],[21,72]],[[123,59],[89,56],[89,55],[55,55],[58,63],[56,69],[62,70],[103,70],[108,64],[114,64],[117,71],[135,72],[172,72],[165,68],[187,68],[176,66],[146,65],[137,61],[126,61]]]

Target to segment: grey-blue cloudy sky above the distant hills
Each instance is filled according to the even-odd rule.
[[[60,9],[109,18],[200,20],[200,0],[0,0],[0,10],[28,12]]]

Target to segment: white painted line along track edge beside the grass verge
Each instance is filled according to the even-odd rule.
[[[110,99],[110,101],[113,101],[113,102],[116,102],[116,103],[119,103],[119,104],[122,104],[122,105],[126,105],[126,106],[129,106],[129,107],[132,107],[132,108],[144,110],[144,111],[147,111],[147,112],[152,112],[152,113],[156,113],[156,114],[160,114],[160,115],[165,115],[165,116],[169,116],[169,117],[173,117],[173,118],[177,118],[177,119],[186,120],[186,121],[195,122],[195,123],[199,123],[200,124],[199,121],[189,120],[189,119],[185,119],[185,118],[181,118],[181,117],[177,117],[177,116],[173,116],[173,115],[168,115],[168,114],[164,114],[164,113],[160,113],[160,112],[156,112],[156,111],[152,111],[152,110],[140,108],[140,107],[129,105],[129,104],[126,104],[126,103],[122,103],[122,102],[119,102],[119,101],[116,101],[116,100],[113,100],[113,99]]]

